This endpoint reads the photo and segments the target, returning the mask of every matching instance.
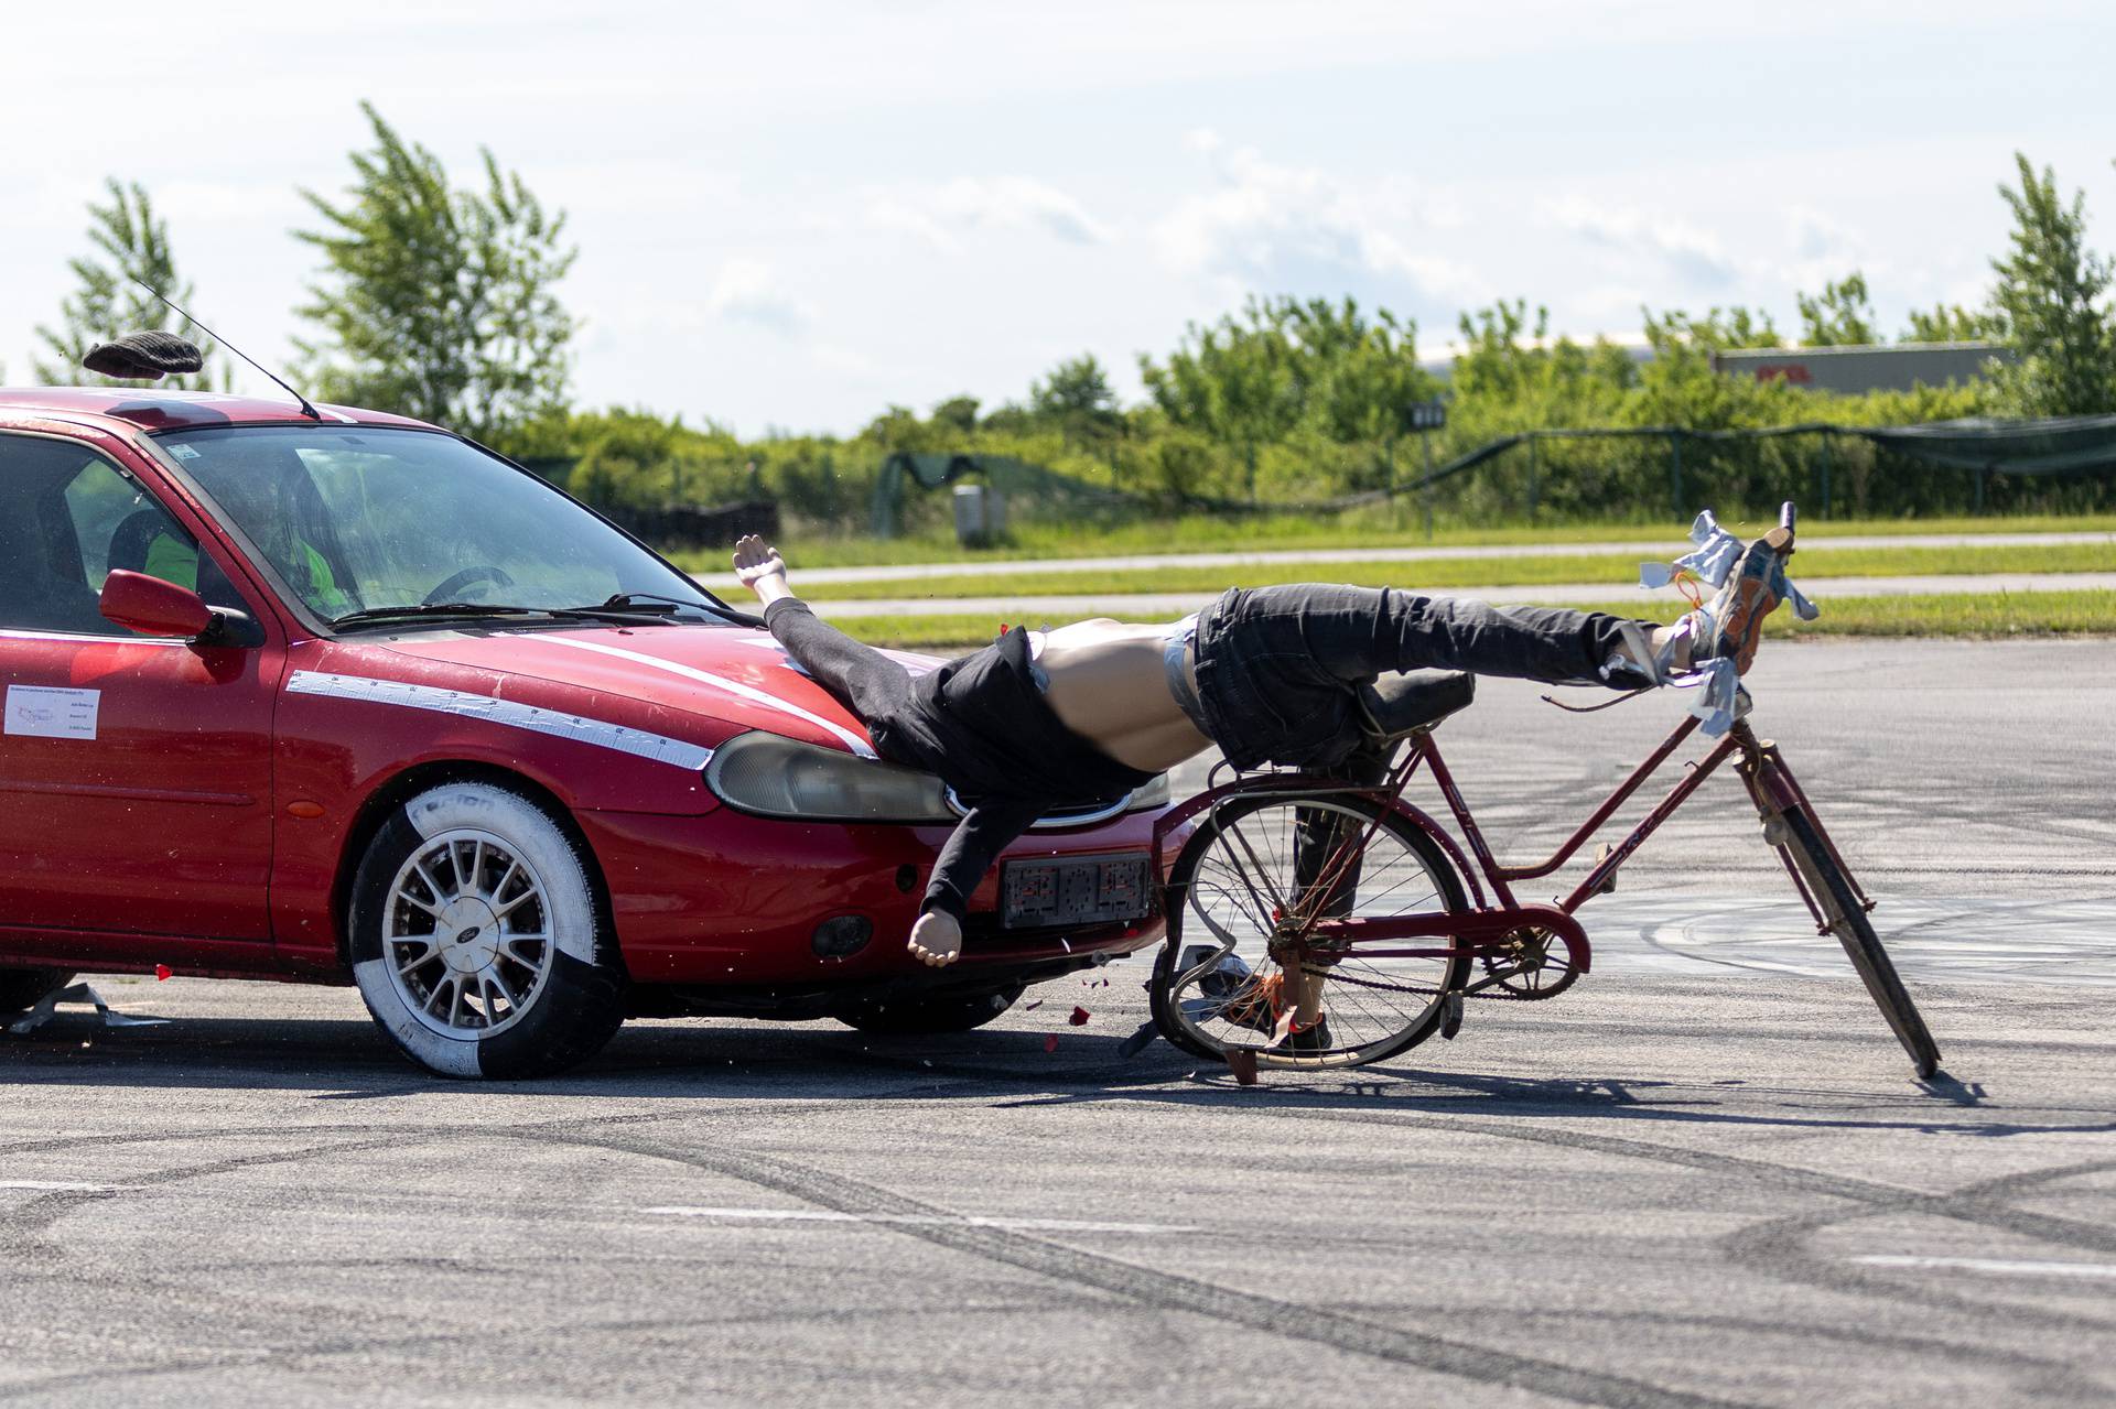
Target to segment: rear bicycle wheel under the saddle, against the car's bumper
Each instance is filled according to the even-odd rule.
[[[1462,880],[1401,812],[1350,791],[1234,798],[1200,821],[1168,876],[1153,1020],[1170,1043],[1217,1062],[1234,1049],[1253,1051],[1259,1066],[1295,1068],[1394,1056],[1439,1030],[1447,994],[1469,980],[1469,954],[1420,939],[1373,948],[1443,952],[1380,958],[1352,948],[1295,960],[1289,975],[1278,956],[1287,916],[1382,920],[1435,910],[1469,910]],[[1289,977],[1318,986],[1322,1022],[1274,1045]]]

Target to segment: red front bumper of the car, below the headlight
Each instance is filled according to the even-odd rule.
[[[1151,853],[1160,810],[1069,831],[1030,831],[1020,857]],[[969,899],[963,958],[944,971],[904,948],[948,827],[798,823],[715,808],[705,817],[580,812],[609,882],[618,948],[635,984],[834,990],[872,984],[1007,984],[1047,977],[1143,950],[1162,916],[1134,925],[1007,931],[999,925],[999,867]],[[874,937],[823,958],[817,925],[861,916]],[[762,994],[760,994],[762,999]]]

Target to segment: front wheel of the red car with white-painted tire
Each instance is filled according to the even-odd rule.
[[[353,874],[347,954],[368,1013],[419,1066],[548,1077],[624,1022],[624,971],[565,827],[491,783],[396,808]]]

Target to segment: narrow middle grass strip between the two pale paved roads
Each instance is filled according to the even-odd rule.
[[[1678,552],[1670,544],[1670,556]],[[1959,573],[2105,573],[2116,571],[2116,544],[2046,544],[1998,548],[1801,548],[1796,578],[1907,578]],[[1549,586],[1557,582],[1636,582],[1638,565],[1608,554],[1551,552],[1532,559],[1430,559],[1424,563],[1259,563],[1253,567],[1153,567],[1115,573],[1028,571],[937,575],[910,582],[813,582],[808,601],[887,601],[948,597],[1054,597],[1094,592],[1215,592],[1278,582],[1350,582],[1352,586]],[[734,575],[707,578],[734,590]],[[796,569],[794,582],[800,584]]]

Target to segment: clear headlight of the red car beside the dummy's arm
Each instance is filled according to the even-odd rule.
[[[838,749],[738,734],[713,751],[705,785],[730,808],[762,817],[817,821],[952,823],[942,783],[916,768],[897,768]]]

